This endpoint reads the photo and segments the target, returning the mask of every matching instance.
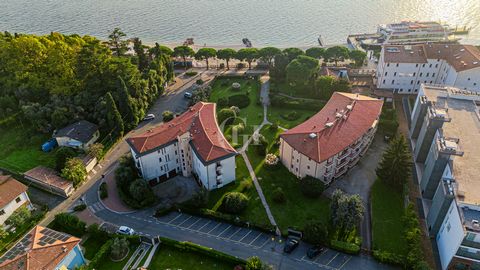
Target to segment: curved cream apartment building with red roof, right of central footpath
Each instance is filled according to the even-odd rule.
[[[280,159],[298,178],[325,184],[355,166],[370,146],[383,101],[335,92],[323,109],[280,135]]]

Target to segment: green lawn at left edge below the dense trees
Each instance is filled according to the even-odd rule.
[[[0,167],[23,173],[38,165],[55,168],[54,152],[45,153],[41,145],[50,138],[29,126],[0,128]]]

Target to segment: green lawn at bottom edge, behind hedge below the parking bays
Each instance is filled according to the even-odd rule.
[[[204,255],[179,250],[173,247],[160,246],[157,253],[149,266],[149,269],[155,270],[180,270],[180,269],[195,269],[195,270],[211,270],[211,269],[225,269],[231,270],[235,265],[214,260]]]

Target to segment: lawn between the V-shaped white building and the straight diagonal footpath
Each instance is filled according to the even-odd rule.
[[[263,208],[263,205],[258,197],[258,193],[253,186],[252,179],[245,165],[245,161],[241,155],[236,157],[236,175],[237,180],[234,183],[228,184],[220,189],[210,191],[208,196],[208,209],[217,211],[221,206],[223,196],[232,191],[242,192],[249,199],[247,209],[240,215],[243,220],[249,220],[257,225],[268,225],[268,217]]]

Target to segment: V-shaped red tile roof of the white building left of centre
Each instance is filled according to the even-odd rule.
[[[192,148],[206,163],[236,154],[217,125],[215,109],[215,103],[199,102],[172,121],[128,138],[127,142],[136,153],[146,154],[189,132]]]

